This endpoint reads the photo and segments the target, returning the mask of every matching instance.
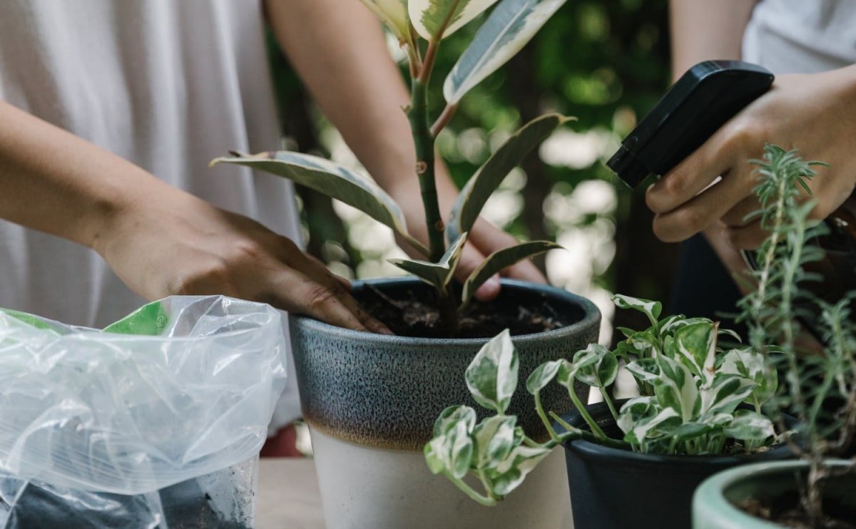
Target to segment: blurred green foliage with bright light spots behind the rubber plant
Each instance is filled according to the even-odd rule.
[[[442,83],[478,27],[475,21],[444,41],[434,82]],[[330,141],[324,139],[329,137],[330,125],[318,115],[276,46],[271,50],[288,148],[329,155]],[[565,134],[567,146],[554,142],[550,156],[544,149],[541,156],[532,155],[522,167],[525,185],[518,178],[516,185],[506,189],[516,195],[512,202],[519,206],[514,208],[515,216],[508,219],[506,229],[523,238],[556,240],[562,239],[562,230],[586,229],[597,223],[607,226],[609,237],[615,241],[614,251],[603,258],[607,259],[605,265],[602,262],[592,268],[587,281],[605,292],[667,301],[677,248],[654,238],[644,193],[632,193],[624,187],[603,162],[668,86],[666,0],[572,0],[506,67],[473,89],[448,132],[438,139],[438,148],[460,186],[490,155],[491,146],[496,147],[503,134],[512,133],[545,111],[576,116],[578,121],[568,128],[579,134]],[[440,92],[435,91],[437,100],[431,102],[434,116],[443,108]],[[615,189],[614,205],[591,211],[586,208],[588,195],[574,199],[580,184],[590,181],[609,182],[610,193]],[[343,222],[330,199],[317,193],[302,189],[300,197],[309,251],[336,272],[371,275],[360,274],[360,263],[378,256],[349,242],[354,238],[348,236],[353,229],[348,217]],[[553,211],[552,217],[545,213],[545,205],[547,211]],[[574,207],[580,211],[566,211]],[[566,225],[568,222],[574,226]],[[581,283],[573,282],[574,263],[579,262],[564,265],[571,269],[560,270],[559,275],[571,278],[567,284],[577,285],[568,288],[591,295]],[[544,267],[544,260],[538,265]],[[616,316],[615,324],[637,323],[627,321],[632,315],[620,312]]]

